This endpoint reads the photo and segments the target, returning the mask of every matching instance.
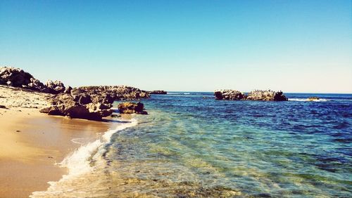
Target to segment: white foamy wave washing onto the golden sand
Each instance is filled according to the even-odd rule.
[[[68,154],[63,161],[56,164],[60,167],[68,168],[68,174],[64,175],[61,180],[57,182],[48,182],[50,186],[46,191],[32,192],[30,197],[46,197],[49,194],[59,194],[62,192],[60,187],[61,183],[82,176],[84,173],[92,172],[94,169],[94,167],[91,166],[92,159],[97,160],[106,153],[106,145],[111,143],[111,136],[118,131],[136,126],[137,124],[137,119],[131,119],[128,123],[121,124],[113,130],[106,131],[98,140],[82,145],[74,152]]]

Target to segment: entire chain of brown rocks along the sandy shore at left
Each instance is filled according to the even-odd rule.
[[[35,79],[32,74],[14,67],[0,67],[0,84],[8,88],[15,87],[15,91],[32,91],[32,93],[38,95],[44,94],[45,101],[48,101],[50,106],[48,107],[47,104],[40,106],[40,112],[70,118],[101,120],[113,113],[111,107],[113,107],[112,103],[115,100],[149,98],[147,91],[131,86],[81,86],[71,88],[70,86],[65,87],[61,81],[51,80],[43,84]],[[30,103],[36,102],[30,101]],[[142,103],[125,104],[120,109],[121,113],[146,114]]]

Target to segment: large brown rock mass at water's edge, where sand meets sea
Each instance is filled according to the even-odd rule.
[[[44,108],[40,112],[71,118],[101,120],[103,117],[108,117],[113,113],[111,107],[113,107],[112,103],[115,100],[136,100],[140,98],[149,98],[149,94],[139,88],[130,86],[68,88],[64,93],[59,93],[49,98],[51,107]],[[137,105],[136,103],[131,104]],[[143,104],[142,107],[144,107]],[[134,112],[120,111],[120,113],[139,112],[140,110]]]

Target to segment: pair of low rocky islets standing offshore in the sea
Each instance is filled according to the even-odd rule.
[[[216,100],[264,100],[264,101],[287,101],[288,98],[282,91],[256,90],[245,94],[236,90],[220,90],[214,92]]]

